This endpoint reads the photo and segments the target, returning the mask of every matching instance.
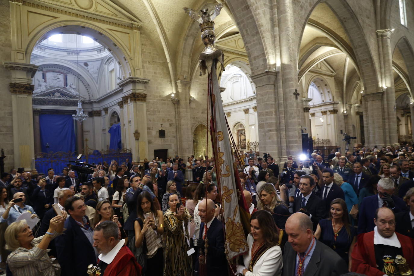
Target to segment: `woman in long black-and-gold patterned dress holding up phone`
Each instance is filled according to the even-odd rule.
[[[192,259],[186,254],[190,250],[187,226],[191,216],[183,205],[176,210],[178,203],[180,203],[178,195],[171,193],[168,197],[170,208],[164,213],[167,234],[165,276],[191,276],[193,274]]]

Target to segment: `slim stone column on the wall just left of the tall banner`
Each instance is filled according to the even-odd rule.
[[[190,114],[190,85],[191,82],[179,79],[177,82],[178,89],[178,102],[179,110],[178,113],[178,123],[180,131],[180,151],[178,151],[179,156],[183,156],[184,159],[187,156],[194,154],[193,150],[193,133],[191,132],[191,118]],[[207,112],[207,110],[206,110]],[[208,132],[207,132],[208,134]]]

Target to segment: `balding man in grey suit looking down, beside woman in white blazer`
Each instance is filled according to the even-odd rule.
[[[348,272],[345,261],[313,237],[313,224],[306,214],[291,215],[285,228],[288,242],[283,254],[284,276],[335,276]]]

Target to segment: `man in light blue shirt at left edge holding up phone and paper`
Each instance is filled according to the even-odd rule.
[[[0,217],[0,222],[7,221],[7,223],[10,225],[14,221],[17,221],[17,219],[22,214],[29,212],[31,214],[30,219],[36,220],[36,223],[37,223],[37,221],[39,221],[38,216],[34,212],[32,206],[24,204],[25,201],[26,201],[26,196],[24,195],[24,192],[15,193],[6,211]],[[36,225],[36,223],[34,223],[34,225]],[[27,224],[31,224],[31,223],[27,221]]]

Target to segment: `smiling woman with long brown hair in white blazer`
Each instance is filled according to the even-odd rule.
[[[259,210],[250,217],[249,251],[243,255],[244,265],[237,265],[237,272],[244,276],[280,276],[282,274],[282,249],[279,231],[272,215]]]

